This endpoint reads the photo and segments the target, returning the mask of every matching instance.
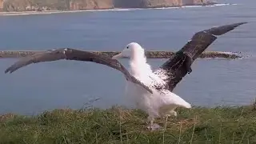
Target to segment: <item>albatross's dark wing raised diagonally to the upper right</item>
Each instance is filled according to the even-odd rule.
[[[158,70],[155,70],[155,74],[165,74],[166,77],[163,77],[163,80],[168,85],[170,91],[174,90],[174,87],[182,80],[182,78],[190,72],[191,65],[196,58],[211,43],[213,43],[218,35],[226,34],[230,30],[234,30],[235,27],[238,27],[247,22],[234,23],[225,26],[218,26],[211,28],[209,30],[202,30],[194,34],[189,42],[182,47],[181,50],[178,50],[167,62],[159,67]]]

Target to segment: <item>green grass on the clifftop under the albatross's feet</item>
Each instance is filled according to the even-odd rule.
[[[178,109],[158,119],[166,130],[146,129],[147,115],[114,106],[108,110],[53,110],[36,116],[0,117],[0,143],[256,143],[254,106]]]

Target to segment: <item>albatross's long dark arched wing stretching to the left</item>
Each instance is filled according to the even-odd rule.
[[[122,72],[125,75],[126,79],[130,82],[134,82],[146,90],[148,90],[151,94],[152,90],[142,82],[140,82],[137,78],[134,78],[128,70],[120,62],[115,59],[106,57],[102,54],[94,54],[88,51],[82,50],[74,50],[74,49],[58,49],[58,50],[47,50],[45,52],[39,52],[33,55],[30,55],[25,58],[21,58],[18,62],[15,62],[14,65],[10,66],[6,69],[5,73],[13,73],[15,70],[22,68],[23,66],[30,65],[31,63],[38,62],[51,62],[57,61],[61,59],[67,60],[76,60],[76,61],[84,61],[84,62],[96,62],[102,65],[110,66],[116,70]]]

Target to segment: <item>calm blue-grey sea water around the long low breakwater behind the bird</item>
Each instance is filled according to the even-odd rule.
[[[174,93],[196,106],[247,105],[256,98],[256,2],[170,9],[86,11],[0,16],[0,50],[122,50],[138,42],[146,50],[179,50],[199,30],[250,22],[220,36],[207,50],[241,51],[248,58],[198,59]],[[4,70],[0,62],[0,113],[36,114],[42,110],[92,105],[132,106],[124,101],[125,78],[117,70],[90,62],[58,61]],[[166,59],[149,59],[158,68]],[[122,63],[127,65],[127,60]]]

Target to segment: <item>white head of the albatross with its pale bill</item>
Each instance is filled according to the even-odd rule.
[[[136,42],[130,42],[120,54],[114,55],[113,59],[118,58],[138,58],[144,57],[144,49]]]

